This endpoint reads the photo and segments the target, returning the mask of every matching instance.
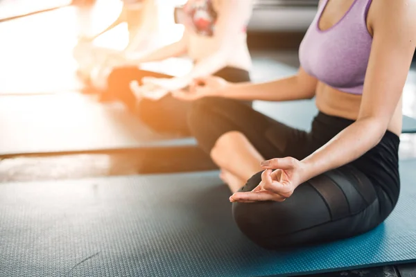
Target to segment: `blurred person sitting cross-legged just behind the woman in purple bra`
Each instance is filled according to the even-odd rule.
[[[182,38],[144,53],[112,70],[101,100],[118,100],[156,132],[189,135],[190,102],[177,100],[171,91],[183,89],[194,78],[216,75],[228,82],[250,81],[252,60],[246,27],[252,0],[189,0],[175,9],[176,21],[184,25]],[[191,71],[175,77],[139,69],[140,64],[187,55]]]

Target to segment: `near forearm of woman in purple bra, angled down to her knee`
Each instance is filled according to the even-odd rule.
[[[302,182],[361,157],[381,141],[385,126],[376,118],[356,120],[320,149],[302,160]]]

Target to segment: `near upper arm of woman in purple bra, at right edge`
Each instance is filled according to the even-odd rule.
[[[373,40],[358,119],[375,117],[387,128],[415,53],[416,2],[378,0],[371,9],[376,16],[369,15]]]

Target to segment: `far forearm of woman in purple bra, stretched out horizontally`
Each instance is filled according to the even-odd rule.
[[[298,75],[258,84],[242,82],[230,84],[219,92],[225,98],[240,100],[288,101],[313,98],[315,91],[302,84]]]

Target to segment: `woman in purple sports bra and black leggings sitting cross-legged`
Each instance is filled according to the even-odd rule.
[[[415,15],[412,0],[322,0],[296,75],[261,84],[209,77],[175,92],[201,98],[191,131],[221,168],[248,238],[269,249],[315,244],[365,233],[390,215],[399,197],[401,94]],[[311,132],[227,99],[314,96]]]

